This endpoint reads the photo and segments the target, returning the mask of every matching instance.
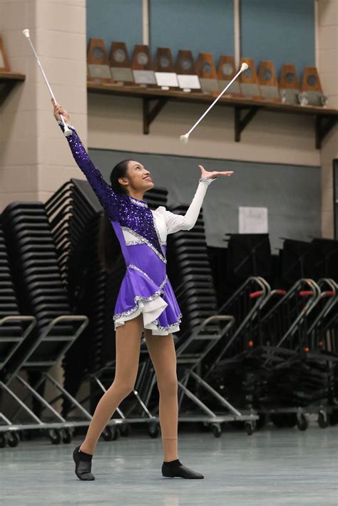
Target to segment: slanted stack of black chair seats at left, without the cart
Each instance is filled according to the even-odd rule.
[[[46,211],[41,202],[12,202],[2,220],[21,311],[34,315],[41,331],[71,314]]]

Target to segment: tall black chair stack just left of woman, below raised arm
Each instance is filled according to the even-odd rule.
[[[98,259],[102,207],[87,181],[71,179],[46,202],[62,278],[74,314],[89,324],[63,358],[64,386],[76,396],[83,379],[101,367],[106,274]],[[63,416],[71,405],[65,399]]]

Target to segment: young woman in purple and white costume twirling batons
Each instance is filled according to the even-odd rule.
[[[54,116],[63,130],[60,114],[67,124],[69,115],[53,99],[52,103]],[[109,185],[91,162],[76,130],[68,126],[73,135],[66,139],[73,157],[116,232],[127,267],[113,314],[115,378],[96,406],[85,440],[73,451],[75,473],[80,480],[95,479],[91,460],[96,443],[116,408],[133,391],[144,331],[160,393],[162,475],[203,478],[178,460],[178,383],[173,332],[180,330],[182,314],[166,274],[165,244],[167,234],[193,228],[212,180],[233,172],[208,172],[200,165],[198,188],[184,216],[175,215],[163,206],[153,211],[143,200],[144,193],[154,187],[149,170],[135,160],[123,160],[111,171]]]

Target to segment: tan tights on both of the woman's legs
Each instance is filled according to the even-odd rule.
[[[111,386],[103,394],[93,414],[80,450],[93,455],[98,438],[123,399],[133,391],[138,373],[142,314],[116,329],[116,373]],[[163,460],[178,458],[178,386],[173,334],[153,336],[145,329],[145,340],[156,373],[160,393],[160,429]]]

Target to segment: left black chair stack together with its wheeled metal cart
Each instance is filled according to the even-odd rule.
[[[60,442],[62,429],[63,440],[68,442],[71,440],[71,425],[53,408],[55,399],[48,402],[43,398],[44,386],[49,381],[62,396],[75,403],[86,417],[86,421],[78,421],[78,424],[88,425],[91,415],[48,373],[81,335],[88,324],[88,318],[71,314],[43,204],[13,202],[4,210],[2,223],[20,311],[31,314],[36,319],[36,327],[29,339],[24,340],[6,364],[6,386],[16,380],[28,392],[24,401],[16,399],[19,409],[15,418],[20,413],[33,418],[34,424],[27,424],[26,428],[36,425],[48,429],[53,443]],[[26,371],[28,381],[20,376],[21,371]],[[31,408],[26,404],[29,398],[32,400]],[[57,421],[47,419],[43,422],[43,408],[53,413],[53,418]],[[15,421],[14,418],[12,421]]]

